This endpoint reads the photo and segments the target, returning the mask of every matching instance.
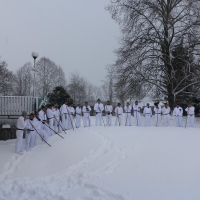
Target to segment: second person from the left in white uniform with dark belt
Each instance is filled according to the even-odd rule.
[[[29,115],[29,119],[26,119],[26,141],[25,141],[25,149],[26,151],[29,151],[30,148],[33,148],[35,146],[35,138],[36,138],[36,131],[35,131],[35,125],[36,122],[33,120],[34,114],[31,113]]]

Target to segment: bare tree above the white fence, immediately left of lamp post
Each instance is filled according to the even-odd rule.
[[[15,73],[14,95],[33,95],[33,67],[30,62],[24,64]]]

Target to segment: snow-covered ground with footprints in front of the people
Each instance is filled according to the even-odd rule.
[[[0,200],[199,200],[197,123],[81,127],[21,156],[0,141]]]

